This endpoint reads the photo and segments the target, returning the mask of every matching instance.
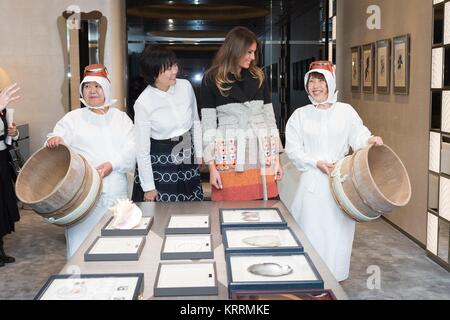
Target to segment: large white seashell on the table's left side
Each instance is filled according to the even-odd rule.
[[[117,200],[117,204],[110,210],[114,216],[111,223],[114,229],[129,230],[136,228],[141,223],[141,209],[128,199]]]

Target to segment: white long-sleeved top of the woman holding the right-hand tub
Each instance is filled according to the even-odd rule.
[[[286,153],[300,171],[316,169],[319,160],[336,163],[349,152],[367,146],[371,137],[349,104],[335,103],[327,110],[313,105],[294,112],[286,126]]]

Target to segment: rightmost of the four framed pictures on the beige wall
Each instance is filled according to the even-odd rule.
[[[409,94],[410,36],[395,37],[393,41],[394,93]]]

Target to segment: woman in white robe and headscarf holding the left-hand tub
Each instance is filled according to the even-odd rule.
[[[111,107],[111,83],[103,65],[85,69],[80,84],[81,101],[87,108],[66,114],[55,126],[47,147],[65,143],[82,155],[102,178],[97,204],[79,223],[66,229],[67,257],[80,247],[116,200],[127,199],[127,172],[136,165],[134,126],[128,115]]]

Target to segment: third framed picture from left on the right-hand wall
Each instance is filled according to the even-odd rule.
[[[377,93],[389,94],[391,88],[391,40],[380,40],[376,47]]]

